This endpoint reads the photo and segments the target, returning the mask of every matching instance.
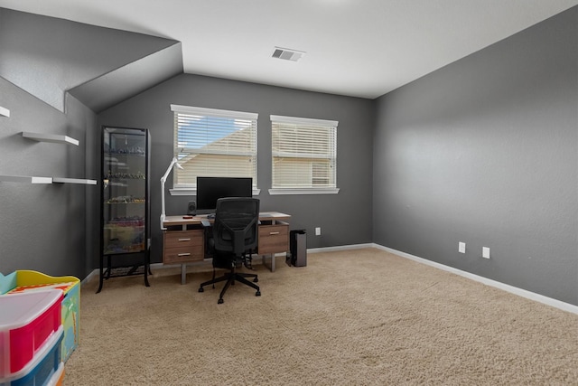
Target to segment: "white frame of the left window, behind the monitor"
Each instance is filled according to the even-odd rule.
[[[245,111],[234,111],[234,110],[225,110],[219,108],[197,108],[192,106],[183,106],[183,105],[175,105],[171,104],[171,111],[172,111],[172,154],[175,157],[178,157],[180,150],[182,147],[179,146],[178,143],[178,135],[177,135],[177,114],[188,114],[188,115],[199,115],[202,117],[215,117],[215,118],[238,118],[238,119],[245,119],[245,120],[252,120],[254,121],[255,133],[254,133],[254,144],[255,150],[254,154],[251,156],[255,162],[255,175],[252,176],[253,178],[253,195],[258,195],[260,193],[260,189],[257,187],[257,120],[258,114],[245,112]],[[196,186],[178,186],[175,187],[176,178],[174,178],[174,174],[178,173],[178,169],[175,167],[173,170],[173,178],[172,178],[172,188],[169,189],[171,195],[196,195],[197,194],[197,187]],[[235,176],[235,175],[232,175]],[[241,175],[238,175],[241,176]],[[242,175],[246,177],[247,175]]]

